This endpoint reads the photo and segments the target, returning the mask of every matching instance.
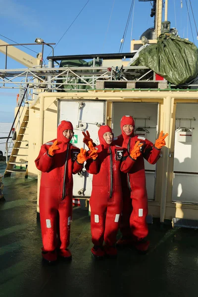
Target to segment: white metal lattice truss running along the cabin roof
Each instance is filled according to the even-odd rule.
[[[29,68],[29,69],[3,69],[0,70],[1,89],[31,89],[34,94],[37,90],[61,92],[81,91],[96,89],[96,81],[155,81],[155,73],[145,66],[123,67],[61,67],[61,68]],[[184,91],[198,84],[190,83],[181,85],[179,89]],[[29,86],[27,87],[27,85]],[[69,88],[69,86],[71,88]],[[84,86],[84,89],[79,89]],[[66,87],[66,88],[65,88]],[[87,87],[87,88],[86,88]],[[175,85],[169,84],[169,90],[175,89]],[[177,87],[178,88],[178,87]],[[150,88],[148,88],[150,89]],[[177,89],[178,90],[178,89]]]

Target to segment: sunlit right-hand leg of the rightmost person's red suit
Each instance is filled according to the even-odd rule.
[[[142,239],[148,235],[146,217],[148,215],[147,190],[136,186],[131,192],[133,210],[130,216],[131,233],[133,237]]]

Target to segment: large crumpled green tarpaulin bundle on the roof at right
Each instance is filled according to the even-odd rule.
[[[146,66],[168,82],[181,85],[198,76],[198,48],[188,40],[162,34],[157,44],[140,51],[134,65]]]

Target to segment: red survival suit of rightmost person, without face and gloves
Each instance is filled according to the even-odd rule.
[[[123,193],[123,210],[120,219],[120,231],[123,238],[130,238],[140,241],[148,235],[148,225],[146,217],[148,214],[148,198],[146,189],[145,165],[144,158],[150,163],[155,164],[159,158],[160,149],[144,137],[126,135],[122,127],[132,125],[135,122],[132,116],[123,116],[120,127],[122,134],[114,138],[114,142],[123,148],[127,148],[129,154],[134,148],[137,141],[143,144],[141,147],[142,154],[134,162],[133,167],[127,174],[122,173],[122,193]],[[131,200],[131,199],[132,200]]]

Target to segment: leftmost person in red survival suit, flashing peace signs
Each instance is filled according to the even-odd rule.
[[[57,139],[44,144],[35,160],[36,167],[42,171],[39,199],[42,256],[48,262],[55,261],[57,253],[71,259],[67,247],[72,218],[72,174],[82,169],[87,158],[85,149],[70,144],[73,134],[72,123],[61,121]]]

